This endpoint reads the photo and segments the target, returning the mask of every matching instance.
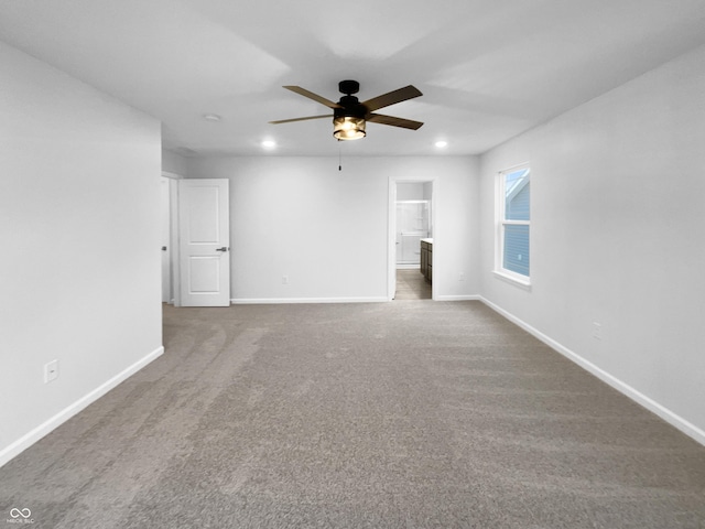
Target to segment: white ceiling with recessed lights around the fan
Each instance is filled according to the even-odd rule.
[[[477,154],[705,44],[705,0],[0,0],[0,39],[156,118],[182,154]],[[366,100],[425,125],[332,137],[282,88]],[[219,122],[203,119],[223,117]]]

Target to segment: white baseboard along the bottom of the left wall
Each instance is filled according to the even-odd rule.
[[[96,389],[90,391],[89,393],[85,395],[84,397],[82,397],[76,402],[74,402],[73,404],[70,404],[67,408],[65,408],[64,410],[59,411],[58,413],[56,413],[54,417],[52,417],[47,421],[43,422],[42,424],[40,424],[35,429],[31,430],[30,432],[25,433],[20,439],[18,439],[13,443],[11,443],[9,446],[0,450],[0,466],[4,465],[11,458],[13,458],[14,456],[19,455],[24,450],[29,449],[31,445],[36,443],[44,435],[46,435],[50,432],[52,432],[52,430],[54,430],[54,429],[58,428],[59,425],[62,425],[68,419],[74,417],[76,413],[78,413],[79,411],[82,411],[85,408],[87,408],[89,404],[91,404],[93,402],[98,400],[100,397],[106,395],[108,391],[110,391],[112,388],[118,386],[120,382],[127,380],[132,375],[134,375],[137,371],[139,371],[144,366],[147,366],[151,361],[155,360],[156,358],[159,358],[163,354],[164,354],[164,347],[163,346],[159,347],[158,349],[154,349],[152,353],[150,353],[149,355],[144,356],[143,358],[140,358],[138,361],[132,364],[130,367],[128,367],[127,369],[124,369],[121,373],[117,374],[115,377],[112,377],[111,379],[109,379],[105,384],[100,385],[99,387],[97,387]]]

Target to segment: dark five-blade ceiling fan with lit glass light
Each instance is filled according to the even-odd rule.
[[[305,118],[281,119],[279,121],[270,121],[270,123],[291,123],[292,121],[305,121],[308,119],[333,118],[333,136],[338,140],[359,140],[365,138],[365,125],[367,121],[380,125],[390,125],[392,127],[401,127],[404,129],[419,129],[423,123],[411,119],[394,118],[393,116],[384,116],[383,114],[375,114],[375,110],[389,107],[414,97],[422,96],[417,88],[409,85],[397,90],[382,94],[367,101],[360,102],[352,94],[357,94],[360,84],[357,80],[341,80],[338,83],[338,89],[344,96],[338,102],[333,102],[313,91],[308,91],[301,86],[284,86],[288,90],[294,91],[301,96],[318,101],[326,107],[333,109],[333,114],[325,116],[308,116]]]

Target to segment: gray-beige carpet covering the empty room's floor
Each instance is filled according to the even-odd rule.
[[[0,523],[705,527],[705,447],[480,303],[165,307],[164,342],[0,468]]]

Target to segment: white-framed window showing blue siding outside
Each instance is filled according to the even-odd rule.
[[[499,173],[497,272],[529,284],[531,170],[521,165]]]

